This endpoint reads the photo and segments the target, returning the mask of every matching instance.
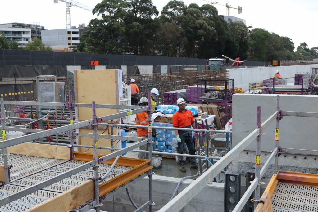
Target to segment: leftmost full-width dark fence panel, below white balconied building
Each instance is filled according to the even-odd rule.
[[[29,50],[4,50],[5,65],[31,65]]]

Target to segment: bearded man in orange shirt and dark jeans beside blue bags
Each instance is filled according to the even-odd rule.
[[[190,110],[185,109],[185,101],[182,98],[177,100],[177,106],[179,110],[172,116],[172,126],[182,127],[182,128],[195,128],[194,119]],[[195,148],[193,145],[192,133],[191,131],[175,130],[176,140],[178,143],[178,153],[183,154],[184,143],[187,144],[189,154],[195,154]],[[185,172],[183,157],[178,156],[178,161],[180,164],[180,171]],[[191,166],[190,169],[197,169],[197,163],[194,158],[190,159]]]

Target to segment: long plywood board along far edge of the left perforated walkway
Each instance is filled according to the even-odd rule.
[[[13,154],[24,154],[36,157],[70,160],[70,148],[66,146],[37,144],[25,142],[7,147],[7,152]]]

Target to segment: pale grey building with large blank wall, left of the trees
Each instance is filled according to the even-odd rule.
[[[43,30],[42,43],[49,46],[76,47],[79,44],[79,28]]]

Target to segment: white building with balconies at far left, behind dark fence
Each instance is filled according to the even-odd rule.
[[[30,28],[0,28],[9,41],[16,40],[19,46],[32,42]]]

